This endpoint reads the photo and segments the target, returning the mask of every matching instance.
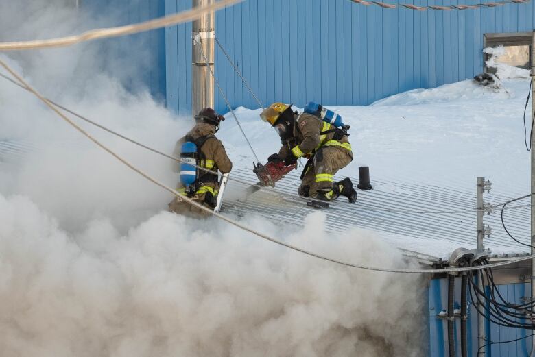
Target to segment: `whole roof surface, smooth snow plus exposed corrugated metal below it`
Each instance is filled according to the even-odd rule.
[[[355,158],[337,177],[358,182],[358,167],[369,166],[375,190],[359,191],[357,204],[341,197],[326,210],[333,230],[356,226],[381,232],[396,247],[432,258],[449,258],[458,247],[476,243],[476,213],[416,214],[419,210],[470,210],[476,206],[476,177],[493,183],[485,201],[499,204],[530,193],[530,153],[523,139],[523,110],[529,79],[505,79],[500,89],[466,80],[432,89],[411,90],[371,106],[329,107],[351,125]],[[328,103],[324,103],[328,104]],[[527,125],[529,113],[527,109]],[[260,160],[278,151],[278,136],[258,119],[260,110],[236,111]],[[230,115],[227,114],[227,117]],[[254,181],[252,154],[232,121],[218,136],[235,163],[232,175]],[[304,164],[305,162],[302,162]],[[278,182],[280,193],[296,194],[298,174]],[[255,197],[256,196],[256,197]],[[257,193],[248,199],[226,199],[227,212],[251,210],[270,219],[302,222],[311,212],[305,201]],[[509,206],[530,204],[529,199]],[[390,211],[390,212],[389,212]],[[402,213],[399,211],[409,211]],[[512,235],[530,237],[530,208],[506,210]],[[485,247],[493,254],[525,254],[501,227],[499,210],[484,217],[492,228]]]

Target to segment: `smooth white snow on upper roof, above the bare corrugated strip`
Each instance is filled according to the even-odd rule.
[[[476,177],[484,176],[496,190],[525,195],[530,192],[530,153],[522,117],[529,88],[529,79],[505,79],[500,90],[466,80],[400,93],[372,106],[329,106],[351,125],[355,155],[337,175],[358,177],[358,167],[369,166],[372,181],[467,190],[475,190]],[[259,119],[260,112],[240,108],[237,116],[260,159],[266,160],[280,142]],[[252,167],[250,149],[232,116],[226,117],[219,136],[238,166]]]

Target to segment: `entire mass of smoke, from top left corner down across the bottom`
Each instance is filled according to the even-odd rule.
[[[0,3],[0,38],[112,22],[65,1]],[[189,127],[141,87],[140,58],[98,43],[0,54],[47,97],[163,151]],[[102,56],[106,58],[103,60]],[[125,63],[123,66],[122,64]],[[5,73],[2,71],[2,73]],[[0,78],[0,140],[32,149],[0,162],[1,356],[420,356],[420,277],[310,258],[226,225],[162,212],[170,197]],[[169,162],[84,125],[169,185]],[[350,262],[407,266],[375,234],[248,225]]]

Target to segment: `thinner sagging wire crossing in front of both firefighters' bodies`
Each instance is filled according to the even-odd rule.
[[[25,88],[25,86],[22,86],[21,84],[17,83],[16,81],[11,79],[10,77],[8,77],[6,75],[3,75],[3,73],[0,73],[0,77],[3,77],[4,79],[8,80],[12,84],[15,84],[16,86],[19,86],[20,88],[31,92],[28,88]],[[164,153],[162,151],[158,151],[157,149],[154,149],[154,148],[152,148],[152,147],[150,147],[148,145],[145,145],[143,143],[139,143],[139,141],[133,140],[132,138],[128,138],[128,136],[125,136],[123,134],[115,132],[114,130],[109,129],[108,127],[105,127],[102,124],[99,124],[99,123],[97,123],[95,121],[92,121],[91,119],[88,119],[85,116],[82,116],[82,115],[74,112],[73,110],[70,110],[69,108],[67,108],[65,106],[62,106],[61,104],[56,103],[55,101],[52,101],[51,99],[48,99],[48,98],[46,98],[46,99],[47,99],[47,101],[52,103],[54,106],[64,110],[65,112],[68,112],[69,114],[72,114],[73,116],[76,116],[78,119],[82,119],[83,121],[86,121],[86,123],[90,123],[91,125],[95,125],[95,127],[99,127],[100,129],[102,129],[102,130],[104,130],[104,131],[106,131],[106,132],[108,132],[110,134],[113,134],[113,135],[115,135],[115,136],[117,136],[119,138],[122,138],[123,140],[126,140],[126,141],[128,141],[128,142],[130,142],[130,143],[132,143],[134,145],[138,145],[139,147],[142,147],[143,149],[147,149],[148,151],[152,151],[153,153],[156,153],[156,154],[158,154],[160,156],[163,156],[163,157],[168,158],[170,160],[174,160],[175,162],[178,162],[178,163],[185,163],[180,158],[176,158],[176,157],[168,155],[167,153]],[[190,164],[190,163],[188,163],[188,164],[193,166],[193,167],[195,167],[196,169],[199,169],[200,171],[213,173],[213,171],[211,169],[206,169],[206,167],[200,167],[200,166],[198,166],[196,164]],[[237,182],[239,184],[244,184],[244,185],[247,185],[247,186],[254,186],[254,187],[257,187],[257,188],[268,188],[267,186],[263,186],[261,184],[252,184],[251,182],[247,182],[247,181],[244,181],[244,180],[239,180],[238,178],[235,178],[233,176],[229,176],[228,180]],[[294,197],[294,198],[298,198],[298,199],[305,198],[305,197],[302,197],[300,195],[294,195],[292,193],[285,193],[283,195],[282,193],[278,193],[276,190],[268,190],[267,192],[270,193],[270,194],[280,195],[280,196],[284,196],[284,197],[289,196],[289,197]],[[315,200],[312,197],[306,197],[306,198],[309,199],[309,200]],[[510,201],[508,201],[508,202],[506,202],[504,204],[508,204],[508,203],[510,203]],[[497,208],[499,206],[503,206],[504,204],[497,204],[495,206],[492,206],[492,208]],[[523,208],[523,207],[529,207],[529,206],[531,206],[531,205],[527,204],[527,205],[521,205],[521,206],[512,206],[512,207],[503,208],[503,209],[505,209],[505,210],[514,210],[516,208]],[[359,207],[357,207],[357,209],[358,208]],[[466,210],[376,210],[376,209],[366,208],[366,210],[368,210],[370,212],[385,212],[385,213],[400,213],[400,214],[460,214],[460,213],[472,213],[472,212],[477,212],[478,211],[477,208],[469,208],[469,209],[466,209]],[[482,210],[482,209],[479,209],[479,210]]]

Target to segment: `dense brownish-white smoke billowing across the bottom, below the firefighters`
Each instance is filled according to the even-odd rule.
[[[25,197],[0,197],[3,356],[419,356],[414,275],[339,267],[220,221],[161,212],[121,236],[71,235]],[[377,237],[326,239],[249,223],[348,261],[400,266]],[[217,232],[217,233],[216,233]]]

